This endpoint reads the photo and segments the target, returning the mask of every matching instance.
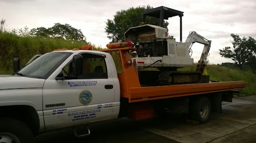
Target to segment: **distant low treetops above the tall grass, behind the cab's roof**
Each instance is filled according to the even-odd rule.
[[[30,30],[31,36],[64,38],[71,41],[86,41],[81,29],[76,29],[70,24],[56,23],[50,28],[38,27]]]

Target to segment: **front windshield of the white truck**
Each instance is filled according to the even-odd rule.
[[[47,79],[72,53],[52,52],[44,54],[17,72],[17,75]]]

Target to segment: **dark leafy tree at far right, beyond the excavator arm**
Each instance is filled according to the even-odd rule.
[[[240,37],[231,34],[233,47],[219,49],[221,57],[229,58],[235,61],[241,70],[244,69],[246,62],[252,60],[256,55],[256,40],[252,37]]]

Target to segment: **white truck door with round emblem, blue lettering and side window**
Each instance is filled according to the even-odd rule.
[[[43,87],[45,129],[108,119],[114,106],[114,80],[106,55],[83,53],[83,74],[72,74],[72,60],[63,67],[64,80],[47,79]],[[59,74],[59,75],[60,75]]]

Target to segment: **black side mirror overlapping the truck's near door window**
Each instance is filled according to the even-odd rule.
[[[72,70],[75,76],[83,74],[83,56],[82,55],[73,56]]]

